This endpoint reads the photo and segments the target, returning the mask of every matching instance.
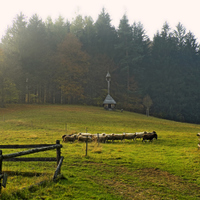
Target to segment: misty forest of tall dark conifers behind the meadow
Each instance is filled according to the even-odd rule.
[[[200,55],[195,35],[165,22],[152,40],[126,15],[111,25],[102,9],[96,21],[78,15],[43,21],[20,13],[0,43],[0,106],[8,103],[102,106],[200,123]]]

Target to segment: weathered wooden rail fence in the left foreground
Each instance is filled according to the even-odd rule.
[[[11,154],[3,154],[2,150],[0,150],[0,192],[3,187],[6,187],[6,181],[7,181],[7,174],[2,172],[2,165],[3,161],[56,161],[57,162],[57,168],[55,170],[53,180],[57,178],[57,176],[61,172],[61,165],[63,162],[64,157],[61,156],[61,148],[62,145],[60,144],[60,141],[57,140],[56,144],[34,144],[34,145],[0,145],[0,149],[18,149],[18,148],[31,148],[27,151],[21,151],[17,153],[11,153]],[[56,149],[56,157],[29,157],[29,158],[17,158],[19,156],[33,154],[41,151],[48,151]],[[3,179],[3,182],[2,182]]]

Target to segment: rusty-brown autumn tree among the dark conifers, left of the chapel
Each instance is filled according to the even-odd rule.
[[[58,45],[55,55],[55,81],[67,103],[77,103],[84,98],[84,84],[89,67],[89,56],[81,50],[80,41],[71,33]]]

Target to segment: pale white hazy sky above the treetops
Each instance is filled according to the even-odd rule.
[[[200,0],[0,0],[0,38],[13,19],[22,12],[30,18],[37,13],[43,20],[59,15],[71,21],[78,14],[91,16],[94,21],[104,7],[112,24],[118,28],[126,13],[129,24],[141,22],[152,39],[167,21],[172,29],[181,22],[200,42]]]

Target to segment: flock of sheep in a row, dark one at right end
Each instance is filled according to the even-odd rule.
[[[101,142],[106,143],[108,141],[114,142],[115,140],[136,140],[137,138],[142,139],[143,141],[151,141],[155,138],[157,139],[157,133],[155,131],[153,132],[136,132],[136,133],[122,133],[122,134],[91,134],[91,133],[78,133],[78,134],[71,134],[71,135],[63,135],[62,139],[63,142],[74,142],[75,140],[81,141],[81,142]]]

